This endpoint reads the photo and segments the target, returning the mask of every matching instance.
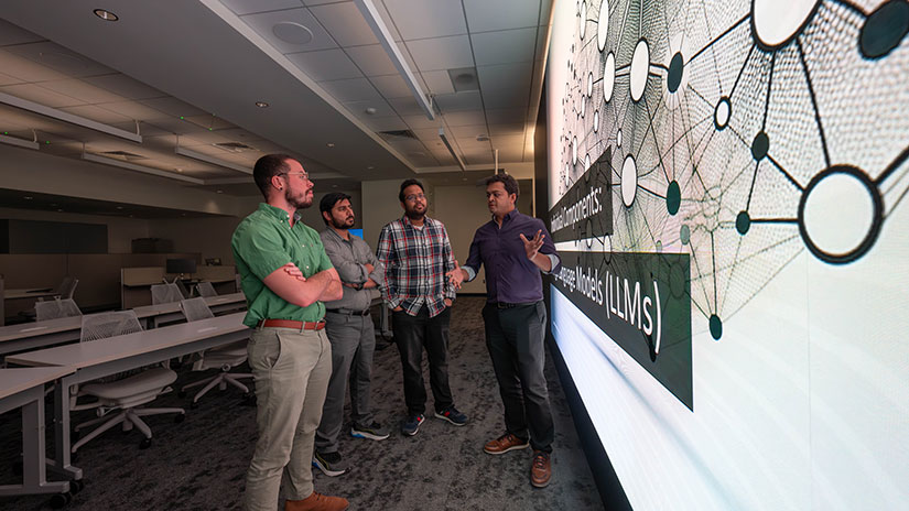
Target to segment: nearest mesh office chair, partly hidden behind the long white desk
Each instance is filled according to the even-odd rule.
[[[142,326],[139,324],[133,311],[90,314],[83,316],[79,341],[99,341],[136,331],[142,331]],[[176,413],[174,422],[180,423],[183,422],[186,412],[183,409],[175,407],[145,409],[139,406],[154,401],[164,392],[170,392],[171,389],[167,385],[174,381],[176,381],[176,372],[163,367],[153,367],[151,369],[142,368],[121,372],[84,385],[78,391],[77,396],[91,395],[97,398],[98,401],[90,404],[98,407],[99,416],[77,425],[76,432],[98,423],[101,423],[101,425],[73,444],[72,452],[75,453],[89,441],[120,423],[123,424],[123,431],[130,431],[133,426],[138,427],[145,435],[139,447],[143,449],[150,447],[151,428],[141,417],[162,413]],[[117,409],[120,410],[120,413],[116,416],[108,417],[105,415],[107,412]]]

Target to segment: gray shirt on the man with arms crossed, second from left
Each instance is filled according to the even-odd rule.
[[[376,283],[382,281],[385,267],[376,259],[376,254],[362,239],[350,235],[350,240],[342,238],[331,227],[318,233],[325,253],[338,272],[340,281],[349,284],[362,284],[367,279]],[[372,273],[366,271],[366,264],[372,264]],[[334,302],[325,302],[325,308],[344,308],[347,311],[365,311],[369,308],[372,298],[379,297],[379,289],[355,290],[342,286],[344,296]]]

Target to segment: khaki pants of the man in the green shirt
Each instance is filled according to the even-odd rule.
[[[257,328],[249,340],[259,439],[246,477],[245,509],[278,509],[282,471],[286,498],[313,492],[313,438],[332,376],[325,330]]]

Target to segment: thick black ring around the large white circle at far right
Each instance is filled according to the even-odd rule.
[[[834,174],[847,174],[855,177],[859,183],[862,183],[863,186],[865,186],[865,189],[868,192],[868,195],[870,195],[872,203],[874,204],[874,217],[872,218],[872,226],[868,228],[868,232],[856,248],[845,253],[830,253],[818,247],[808,233],[804,219],[804,207],[811,192],[825,177]],[[804,241],[805,247],[808,247],[808,250],[814,254],[815,258],[830,264],[846,264],[867,253],[874,246],[875,241],[877,241],[877,237],[880,235],[880,227],[884,225],[884,199],[880,197],[880,191],[877,188],[877,185],[870,177],[868,177],[866,173],[862,172],[862,170],[852,165],[833,165],[829,168],[824,168],[818,175],[812,177],[811,182],[809,182],[808,186],[805,186],[804,192],[802,192],[802,197],[799,199],[798,220],[799,233],[802,237],[802,241]]]

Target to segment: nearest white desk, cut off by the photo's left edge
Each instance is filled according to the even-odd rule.
[[[44,445],[44,384],[75,371],[71,367],[0,369],[0,413],[22,409],[22,485],[0,486],[0,497],[65,493],[69,481],[47,481]]]

